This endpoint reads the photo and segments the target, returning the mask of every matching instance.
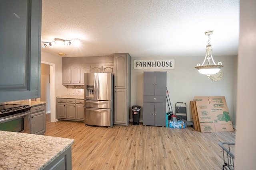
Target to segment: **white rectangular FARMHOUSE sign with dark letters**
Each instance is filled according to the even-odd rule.
[[[134,60],[134,69],[174,69],[174,59]]]

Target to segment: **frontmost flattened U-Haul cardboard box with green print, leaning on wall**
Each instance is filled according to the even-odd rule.
[[[224,96],[196,96],[201,132],[234,131]]]

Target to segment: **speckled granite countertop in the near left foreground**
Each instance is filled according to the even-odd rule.
[[[0,137],[0,169],[42,170],[74,143],[74,139],[8,131],[0,131]]]

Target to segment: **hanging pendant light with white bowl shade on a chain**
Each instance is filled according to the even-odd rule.
[[[220,68],[223,67],[221,62],[218,62],[216,64],[214,62],[214,59],[212,57],[212,45],[210,44],[210,35],[212,35],[213,30],[205,31],[204,34],[208,35],[208,44],[206,45],[206,55],[204,57],[204,62],[202,65],[197,64],[195,68],[198,69],[198,71],[201,74],[206,74],[207,76],[210,76],[212,74],[216,74],[217,72],[220,71]],[[207,65],[204,65],[205,61],[207,59]],[[210,64],[210,59],[212,59],[212,63]]]

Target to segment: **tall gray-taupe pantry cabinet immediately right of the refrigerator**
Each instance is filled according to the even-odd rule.
[[[130,121],[131,57],[128,53],[114,54],[115,109],[114,125],[128,126]]]

